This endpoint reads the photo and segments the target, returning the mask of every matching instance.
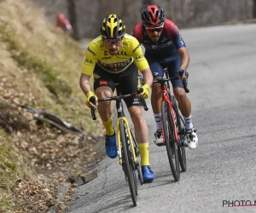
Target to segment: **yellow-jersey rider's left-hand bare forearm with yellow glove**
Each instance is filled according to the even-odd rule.
[[[90,75],[82,73],[80,76],[80,87],[86,95],[85,105],[87,107],[96,107],[98,105],[97,97],[94,93],[90,90]],[[96,104],[90,102],[90,98],[95,97]]]

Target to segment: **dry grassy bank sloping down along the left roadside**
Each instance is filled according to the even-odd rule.
[[[26,118],[28,126],[27,130],[13,130],[10,135],[0,130],[0,212],[30,212],[26,210],[26,204],[19,204],[15,195],[21,179],[34,182],[35,186],[40,184],[32,164],[35,159],[31,157],[38,147],[32,147],[37,145],[30,141],[39,138],[42,146],[49,139],[58,144],[59,138],[55,130],[50,132],[49,129],[47,133],[38,131],[31,115],[24,114],[15,104],[27,104],[55,113],[83,127],[86,133],[102,134],[102,124],[99,119],[92,122],[90,110],[84,107],[84,94],[79,87],[84,62],[84,49],[80,44],[55,29],[54,23],[49,23],[31,1],[2,0],[0,10],[0,105],[8,103],[13,106],[12,110]],[[0,115],[9,118],[9,114],[3,112],[0,107]],[[13,129],[17,118],[9,118],[13,119]],[[0,118],[0,128],[1,121]],[[63,138],[60,137],[60,140],[63,141]],[[67,141],[63,143],[68,144]],[[37,155],[33,154],[35,158]],[[15,211],[18,209],[20,211]]]

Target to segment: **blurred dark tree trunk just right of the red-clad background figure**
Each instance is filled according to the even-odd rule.
[[[79,29],[78,29],[78,23],[77,23],[76,0],[67,0],[67,11],[68,11],[70,24],[73,27],[73,38],[78,40]]]

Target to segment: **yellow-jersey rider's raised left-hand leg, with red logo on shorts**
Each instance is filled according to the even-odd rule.
[[[111,74],[102,70],[96,65],[94,71],[94,90],[98,98],[106,98],[113,95],[114,81]],[[106,129],[106,153],[109,158],[117,156],[117,147],[115,133],[113,129],[111,101],[102,101],[98,103],[98,112],[102,118],[102,124]]]

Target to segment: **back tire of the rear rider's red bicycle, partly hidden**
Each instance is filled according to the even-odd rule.
[[[176,101],[176,98],[174,95],[171,96],[171,101],[175,108],[174,112],[175,112],[175,117],[176,117],[176,121],[177,121],[177,130],[180,134],[182,134],[184,125],[183,125],[183,122],[181,121],[182,118],[179,116],[180,114],[178,112],[177,101]],[[178,158],[179,158],[180,167],[181,167],[182,171],[185,172],[187,170],[187,159],[186,159],[185,147],[184,146],[177,147],[177,154],[178,154]]]

